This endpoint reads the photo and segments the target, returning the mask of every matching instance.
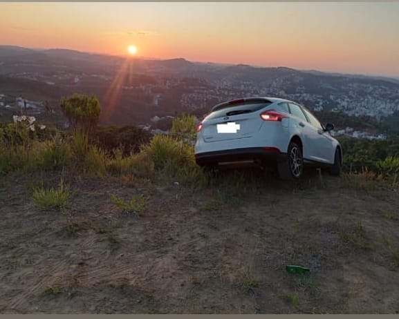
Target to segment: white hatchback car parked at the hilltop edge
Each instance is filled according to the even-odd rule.
[[[218,104],[197,127],[196,163],[208,168],[277,164],[283,179],[298,179],[304,164],[340,175],[342,148],[308,109],[273,97],[245,97]]]

